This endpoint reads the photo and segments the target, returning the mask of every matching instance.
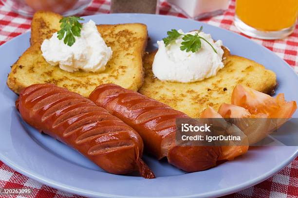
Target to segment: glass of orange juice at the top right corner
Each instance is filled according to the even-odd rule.
[[[278,39],[296,26],[298,0],[236,0],[235,25],[244,34]]]

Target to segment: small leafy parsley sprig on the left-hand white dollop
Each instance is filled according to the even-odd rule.
[[[59,22],[61,23],[61,30],[58,31],[57,38],[63,40],[64,44],[72,46],[75,43],[75,36],[81,36],[82,24],[78,21],[84,20],[78,16],[63,17]],[[65,35],[65,36],[64,36]]]

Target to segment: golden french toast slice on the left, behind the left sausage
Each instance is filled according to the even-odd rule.
[[[42,56],[40,45],[59,27],[61,16],[51,12],[38,12],[33,18],[32,46],[12,66],[7,79],[8,87],[20,90],[35,83],[54,83],[88,97],[93,89],[104,83],[114,83],[137,91],[144,80],[142,57],[147,46],[147,26],[140,23],[98,25],[98,32],[112,48],[112,59],[103,72],[64,71],[51,66]]]

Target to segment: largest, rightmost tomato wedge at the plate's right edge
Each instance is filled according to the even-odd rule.
[[[297,109],[296,101],[285,101],[284,94],[278,94],[276,98],[273,98],[242,85],[237,85],[234,88],[231,103],[234,106],[238,105],[240,108],[247,109],[251,115],[246,117],[268,118],[242,119],[240,121],[242,123],[237,124],[247,135],[250,144],[260,141],[271,132],[277,130]],[[223,110],[221,112],[223,112]],[[249,127],[242,127],[245,123]]]

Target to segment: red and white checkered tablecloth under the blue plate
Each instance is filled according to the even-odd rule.
[[[240,33],[233,24],[235,1],[231,0],[228,10],[221,16],[215,16],[202,20],[205,23],[222,27],[224,29]],[[93,0],[81,16],[109,13],[109,0]],[[171,6],[162,1],[160,4],[161,15],[173,15],[186,17],[175,11]],[[30,29],[31,19],[20,16],[9,10],[0,3],[0,45],[6,41],[24,33]],[[244,34],[242,34],[244,35]],[[298,24],[294,33],[286,39],[261,40],[254,39],[255,42],[265,46],[284,59],[298,73]],[[77,195],[61,192],[37,181],[27,178],[14,171],[0,161],[0,189],[1,188],[30,188],[31,195],[22,195],[25,198],[81,198]],[[2,196],[3,197],[3,196]],[[0,198],[2,198],[0,195]],[[10,196],[7,198],[16,198]],[[287,165],[279,173],[255,186],[242,190],[238,193],[225,196],[227,198],[298,198],[298,158]],[[3,197],[4,198],[4,197]]]

